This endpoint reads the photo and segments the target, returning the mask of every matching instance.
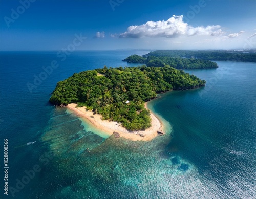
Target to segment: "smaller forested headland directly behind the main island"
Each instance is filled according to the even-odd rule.
[[[145,63],[147,67],[164,67],[170,65],[176,69],[209,69],[218,68],[215,62],[195,59],[195,58],[182,58],[182,57],[156,57],[147,56],[142,57],[139,55],[131,55],[124,59],[128,63]]]

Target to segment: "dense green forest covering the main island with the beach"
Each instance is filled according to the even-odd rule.
[[[168,90],[193,89],[205,80],[173,67],[118,67],[75,73],[57,83],[50,102],[55,105],[78,103],[103,119],[122,123],[126,129],[151,126],[144,102]],[[129,100],[129,103],[126,101]]]

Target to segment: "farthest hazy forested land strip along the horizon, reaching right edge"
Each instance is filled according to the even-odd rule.
[[[157,50],[143,55],[143,58],[155,57],[186,57],[203,60],[225,60],[225,61],[249,61],[256,62],[256,53],[252,51],[227,51],[227,50]]]

